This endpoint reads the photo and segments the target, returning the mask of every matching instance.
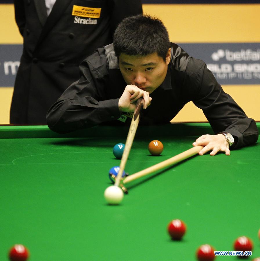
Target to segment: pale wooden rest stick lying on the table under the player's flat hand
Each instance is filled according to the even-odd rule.
[[[176,155],[174,157],[171,157],[168,160],[162,161],[162,162],[160,162],[158,164],[155,164],[155,165],[153,165],[153,166],[151,166],[149,168],[146,168],[146,169],[144,169],[142,171],[136,172],[135,174],[132,174],[132,175],[126,177],[122,181],[122,183],[126,184],[126,183],[131,182],[133,180],[136,180],[136,179],[138,179],[140,177],[148,175],[148,174],[150,174],[152,172],[155,172],[155,171],[158,171],[158,170],[160,170],[162,168],[166,168],[168,166],[176,164],[176,163],[178,163],[178,162],[180,162],[182,160],[185,160],[185,159],[187,159],[189,157],[192,157],[192,156],[196,155],[197,153],[199,153],[199,151],[202,148],[203,148],[203,146],[195,146],[193,148],[190,148],[189,150],[184,151],[184,152],[182,152],[182,153],[180,153],[180,154],[178,154],[178,155]]]

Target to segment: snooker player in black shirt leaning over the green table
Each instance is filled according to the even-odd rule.
[[[162,21],[148,15],[125,18],[113,44],[82,62],[80,79],[49,109],[47,123],[58,133],[111,121],[128,124],[140,97],[144,125],[169,123],[189,101],[201,108],[216,135],[202,135],[193,143],[204,146],[200,155],[230,155],[230,146],[258,139],[255,121],[223,91],[206,64],[171,43]]]

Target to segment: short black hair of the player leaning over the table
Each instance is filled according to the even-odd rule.
[[[163,22],[147,14],[130,16],[122,20],[114,32],[115,55],[146,56],[157,52],[166,61],[170,48],[169,34]]]

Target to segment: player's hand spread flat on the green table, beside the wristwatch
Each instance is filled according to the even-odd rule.
[[[210,152],[211,156],[216,155],[219,151],[225,152],[226,155],[230,155],[229,143],[226,141],[223,134],[217,135],[202,135],[195,142],[192,143],[193,146],[205,146],[198,154],[203,155]]]

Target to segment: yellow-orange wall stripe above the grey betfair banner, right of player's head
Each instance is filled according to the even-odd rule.
[[[260,4],[144,4],[175,43],[260,42]]]

